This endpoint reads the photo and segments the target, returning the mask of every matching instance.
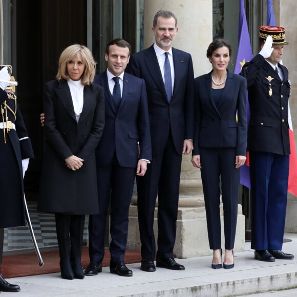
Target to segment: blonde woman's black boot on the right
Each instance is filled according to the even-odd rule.
[[[70,216],[70,261],[75,279],[83,279],[84,273],[81,267],[81,251],[82,251],[82,238],[84,227],[84,215],[71,215]]]

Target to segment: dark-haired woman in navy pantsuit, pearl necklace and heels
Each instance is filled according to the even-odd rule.
[[[192,163],[201,169],[208,240],[214,269],[234,267],[239,167],[246,160],[247,83],[227,71],[231,46],[214,40],[207,49],[213,70],[195,79],[196,136]],[[220,189],[221,178],[221,189]],[[225,258],[222,264],[220,195],[224,210]]]

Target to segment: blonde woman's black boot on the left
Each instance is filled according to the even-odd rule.
[[[61,278],[73,280],[74,273],[70,263],[70,215],[56,213],[55,219],[60,253]]]

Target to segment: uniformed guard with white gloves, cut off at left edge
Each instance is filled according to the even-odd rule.
[[[31,141],[16,104],[8,67],[0,71],[0,291],[19,291],[1,274],[3,228],[25,225],[23,178],[29,158],[33,158]],[[10,67],[11,71],[11,67]]]

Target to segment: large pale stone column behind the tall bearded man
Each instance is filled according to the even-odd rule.
[[[212,41],[213,2],[211,0],[145,0],[144,48],[151,46],[155,41],[151,28],[154,15],[160,9],[172,11],[177,16],[179,31],[173,46],[192,54],[195,77],[209,72],[211,66],[206,58],[206,49]],[[204,256],[212,253],[208,244],[200,171],[193,167],[190,159],[191,156],[183,157],[181,169],[177,236],[174,248],[174,253],[178,258]],[[132,201],[127,248],[140,250],[137,197],[133,197]],[[243,250],[245,231],[241,205],[239,205],[238,218],[235,248],[236,250]],[[155,209],[154,227],[157,239],[157,208]]]

